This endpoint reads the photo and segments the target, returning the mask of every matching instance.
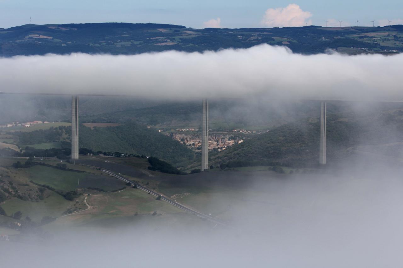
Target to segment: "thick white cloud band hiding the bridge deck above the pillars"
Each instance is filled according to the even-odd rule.
[[[293,54],[286,47],[133,56],[0,58],[2,92],[403,101],[403,54]]]

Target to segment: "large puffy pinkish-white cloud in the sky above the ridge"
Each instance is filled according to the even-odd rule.
[[[303,11],[297,4],[289,4],[285,8],[269,8],[266,10],[262,24],[266,27],[298,27],[305,23],[312,25],[311,12]]]

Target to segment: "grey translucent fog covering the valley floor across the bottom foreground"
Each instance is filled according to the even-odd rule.
[[[239,188],[236,199],[226,194],[210,198],[211,206],[231,204],[226,227],[191,214],[176,220],[145,216],[137,221],[132,216],[133,221],[110,219],[103,224],[80,224],[76,216],[76,227],[56,222],[62,231],[53,232],[54,237],[46,241],[35,236],[29,243],[0,241],[0,251],[7,256],[2,264],[396,267],[401,263],[403,239],[400,173],[386,167],[382,172],[361,169],[339,175],[255,173],[242,189],[234,187]]]

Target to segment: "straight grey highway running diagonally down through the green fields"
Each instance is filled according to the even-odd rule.
[[[85,164],[81,164],[81,165],[85,165]],[[154,196],[161,196],[161,200],[164,200],[165,202],[168,202],[169,204],[171,204],[171,205],[173,205],[173,206],[176,206],[177,208],[180,208],[180,209],[182,209],[182,210],[185,210],[185,211],[187,211],[187,212],[190,212],[190,213],[192,213],[192,214],[195,214],[196,216],[199,216],[199,217],[201,217],[201,218],[204,218],[204,219],[206,219],[206,220],[208,220],[208,221],[211,221],[211,222],[213,222],[213,223],[217,223],[217,224],[219,224],[219,225],[226,225],[226,224],[225,224],[224,222],[222,222],[222,221],[219,221],[219,220],[214,219],[213,217],[210,217],[210,216],[208,216],[208,215],[206,215],[206,214],[203,214],[203,213],[201,213],[201,212],[198,212],[198,211],[196,211],[196,210],[193,210],[193,209],[191,209],[191,208],[188,208],[187,206],[184,206],[184,205],[182,205],[182,204],[179,204],[179,203],[176,202],[175,200],[172,200],[172,199],[170,199],[170,198],[168,198],[168,197],[166,197],[166,196],[163,196],[162,194],[159,194],[159,193],[157,193],[157,192],[155,192],[155,191],[153,191],[153,190],[151,190],[151,189],[148,189],[148,188],[146,188],[146,187],[144,187],[144,186],[141,186],[141,185],[139,185],[138,183],[134,183],[134,182],[132,182],[132,181],[129,181],[128,179],[125,179],[124,177],[122,177],[122,176],[120,176],[120,175],[117,175],[116,173],[113,173],[113,172],[110,171],[110,170],[103,169],[103,168],[100,168],[100,167],[95,167],[95,166],[92,166],[92,165],[85,165],[85,166],[90,167],[90,168],[92,168],[92,169],[98,169],[98,170],[100,170],[100,171],[103,171],[103,172],[105,172],[105,173],[107,173],[107,174],[110,174],[110,175],[116,177],[117,179],[123,180],[123,181],[125,181],[125,182],[129,182],[129,183],[131,183],[131,185],[133,185],[133,186],[136,185],[137,188],[139,188],[140,190],[143,190],[143,191],[145,191],[145,192],[147,192],[147,193],[150,193],[150,194],[152,194],[152,195],[154,195]]]

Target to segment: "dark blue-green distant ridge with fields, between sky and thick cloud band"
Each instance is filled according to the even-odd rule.
[[[160,23],[26,24],[0,29],[0,57],[76,52],[112,55],[167,50],[204,52],[260,44],[286,46],[301,54],[324,53],[327,49],[349,55],[398,54],[403,52],[402,32],[403,25],[193,29]]]

